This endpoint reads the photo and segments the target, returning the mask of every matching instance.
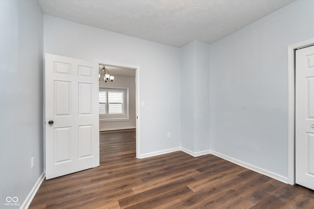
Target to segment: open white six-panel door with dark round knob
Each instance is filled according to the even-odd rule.
[[[99,166],[98,64],[46,54],[45,82],[46,179]]]

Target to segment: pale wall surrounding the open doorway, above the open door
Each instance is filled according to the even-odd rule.
[[[44,52],[139,66],[140,154],[180,147],[180,48],[44,15]]]

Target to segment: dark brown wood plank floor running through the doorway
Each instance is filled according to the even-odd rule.
[[[135,130],[100,133],[100,166],[44,181],[30,209],[314,209],[314,191],[213,155],[135,158]]]

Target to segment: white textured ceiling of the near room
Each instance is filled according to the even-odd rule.
[[[38,0],[58,18],[183,46],[219,40],[294,0]]]

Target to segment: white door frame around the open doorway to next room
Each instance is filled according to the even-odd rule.
[[[122,63],[113,63],[104,60],[95,60],[96,63],[100,65],[108,65],[112,67],[118,68],[129,68],[135,70],[135,114],[136,114],[136,158],[140,158],[140,68],[139,66],[129,65],[129,64],[122,64]]]

